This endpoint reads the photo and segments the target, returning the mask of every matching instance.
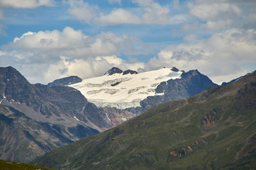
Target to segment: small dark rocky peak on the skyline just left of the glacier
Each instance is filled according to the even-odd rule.
[[[69,76],[69,77],[54,80],[51,83],[48,83],[47,85],[49,87],[57,86],[57,85],[65,86],[65,85],[72,85],[74,83],[79,83],[81,81],[82,81],[82,79],[79,78],[78,76]]]

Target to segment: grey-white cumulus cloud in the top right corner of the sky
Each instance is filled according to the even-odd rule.
[[[209,30],[221,30],[230,27],[255,28],[255,1],[189,1],[190,15],[201,20],[200,27]]]

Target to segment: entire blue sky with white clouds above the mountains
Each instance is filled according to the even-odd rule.
[[[256,69],[256,1],[0,0],[0,66],[43,84],[113,66],[220,84]]]

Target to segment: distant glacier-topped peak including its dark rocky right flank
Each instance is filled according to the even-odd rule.
[[[123,74],[121,74],[123,73]],[[164,102],[186,99],[216,85],[197,70],[186,73],[176,67],[144,73],[112,67],[104,76],[70,85],[98,107],[115,107],[142,113]]]

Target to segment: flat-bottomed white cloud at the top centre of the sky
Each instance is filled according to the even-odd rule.
[[[109,3],[121,3],[111,1]],[[83,0],[67,1],[70,5],[69,13],[87,24],[119,25],[119,24],[180,24],[188,17],[186,15],[171,15],[169,6],[162,6],[153,0],[132,0],[138,9],[117,8],[110,13],[100,12],[97,6],[90,5]],[[140,11],[140,12],[136,12]]]

